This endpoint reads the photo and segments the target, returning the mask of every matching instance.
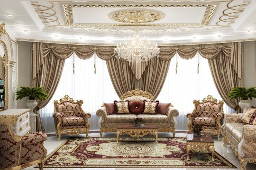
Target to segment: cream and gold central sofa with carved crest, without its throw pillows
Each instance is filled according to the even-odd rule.
[[[152,101],[154,99],[153,95],[144,92],[139,89],[128,91],[124,93],[121,97],[122,101],[129,100],[129,102],[143,102]],[[108,115],[107,111],[102,105],[101,109],[97,110],[97,116],[100,117],[99,126],[101,128],[100,134],[102,136],[103,132],[116,132],[116,128],[119,124],[131,123],[135,118],[142,118],[144,124],[155,124],[157,125],[158,132],[172,132],[175,136],[175,124],[176,120],[174,117],[179,115],[178,110],[174,109],[171,105],[167,115],[160,114],[112,114]]]

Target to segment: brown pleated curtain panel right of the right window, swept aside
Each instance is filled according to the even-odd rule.
[[[241,42],[233,42],[220,49],[217,57],[208,60],[210,71],[219,95],[234,109],[238,105],[238,99],[229,100],[227,96],[232,87],[243,85]]]

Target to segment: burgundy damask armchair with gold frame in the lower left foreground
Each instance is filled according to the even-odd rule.
[[[18,136],[12,131],[16,116],[0,116],[0,170],[21,170],[38,164],[43,170],[47,139],[45,132]]]

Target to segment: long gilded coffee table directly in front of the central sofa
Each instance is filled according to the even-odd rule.
[[[155,135],[155,143],[157,144],[158,128],[156,125],[145,125],[144,127],[137,127],[133,124],[121,124],[117,126],[117,142],[119,135],[129,135],[132,137],[143,137],[146,135]]]

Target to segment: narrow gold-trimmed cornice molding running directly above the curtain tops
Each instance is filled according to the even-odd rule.
[[[48,41],[48,40],[36,40],[27,38],[16,38],[17,41],[26,42],[45,42],[45,43],[60,43],[60,44],[73,44],[73,45],[91,45],[91,46],[113,46],[116,47],[116,43],[83,43],[83,42],[62,42],[62,41]],[[229,43],[229,42],[247,42],[256,41],[256,38],[246,38],[237,40],[226,40],[226,41],[213,41],[213,42],[181,42],[181,43],[159,43],[157,46],[174,46],[174,45],[201,45],[201,44],[215,44],[215,43]]]

